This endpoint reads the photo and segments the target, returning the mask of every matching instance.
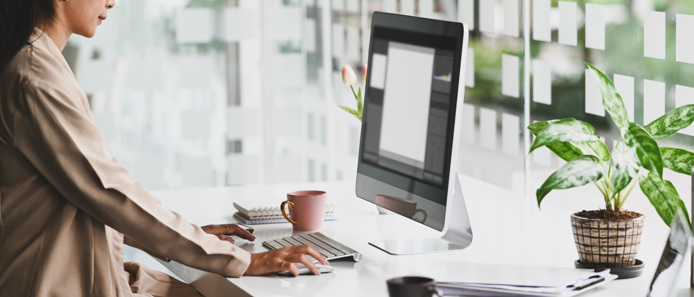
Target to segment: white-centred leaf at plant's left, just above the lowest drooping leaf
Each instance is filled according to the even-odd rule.
[[[564,118],[553,123],[548,123],[537,134],[530,147],[530,152],[543,145],[560,141],[598,141],[593,126],[575,118]]]

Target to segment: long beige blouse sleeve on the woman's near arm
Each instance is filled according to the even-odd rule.
[[[32,85],[33,84],[33,85]],[[72,204],[151,251],[189,267],[239,277],[251,254],[167,210],[108,152],[86,98],[32,82],[13,119],[15,146]]]

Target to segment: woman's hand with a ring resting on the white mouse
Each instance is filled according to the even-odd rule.
[[[323,257],[321,253],[314,250],[308,244],[285,246],[282,249],[273,249],[272,251],[266,251],[264,253],[252,253],[251,265],[249,265],[246,272],[244,272],[244,276],[260,276],[261,274],[285,269],[289,269],[294,276],[298,276],[299,269],[296,268],[294,263],[303,263],[306,267],[311,269],[316,276],[321,274],[318,268],[316,268],[316,265],[306,258],[306,255],[316,258],[316,260],[319,260],[323,265],[328,265],[328,260],[325,260],[325,257]]]

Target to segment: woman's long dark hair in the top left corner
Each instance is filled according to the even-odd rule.
[[[34,27],[56,17],[55,0],[0,1],[0,71],[24,47]],[[42,28],[44,29],[44,28]]]

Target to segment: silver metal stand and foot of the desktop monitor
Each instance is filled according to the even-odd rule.
[[[473,231],[468,219],[468,210],[465,207],[463,192],[460,188],[458,174],[455,174],[455,188],[453,192],[450,215],[446,219],[448,230],[439,238],[425,238],[421,240],[380,240],[369,242],[372,246],[381,249],[391,255],[409,255],[413,253],[436,253],[440,251],[461,251],[473,242]]]

